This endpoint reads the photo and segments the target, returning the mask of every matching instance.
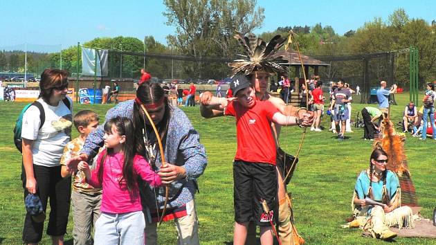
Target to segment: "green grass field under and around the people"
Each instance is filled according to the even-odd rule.
[[[408,95],[396,96],[398,106],[392,106],[394,123],[401,120]],[[359,101],[359,100],[356,100]],[[353,118],[367,105],[353,104]],[[21,156],[12,143],[15,119],[24,103],[0,102],[0,243],[21,244],[21,230],[25,208],[21,188]],[[75,105],[74,111],[93,109],[101,118],[110,105]],[[231,244],[233,239],[233,178],[232,160],[236,138],[233,118],[204,119],[199,107],[183,108],[201,135],[206,146],[208,167],[199,179],[197,211],[200,221],[201,244]],[[324,127],[329,127],[327,117]],[[351,198],[360,170],[367,167],[372,142],[363,140],[363,129],[353,129],[340,143],[328,131],[308,131],[300,153],[300,162],[288,185],[292,192],[296,226],[307,244],[383,244],[361,237],[360,230],[340,228],[351,214]],[[282,129],[280,142],[290,154],[296,154],[302,129]],[[77,133],[73,135],[77,136]],[[421,214],[429,218],[436,206],[436,141],[422,142],[407,137],[406,155],[412,180],[417,189]],[[72,243],[73,220],[70,215],[66,242]],[[176,232],[172,223],[158,228],[160,244],[175,244]],[[401,238],[397,244],[436,244],[435,239]],[[44,235],[41,244],[50,244]]]

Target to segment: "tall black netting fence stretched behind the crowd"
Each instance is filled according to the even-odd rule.
[[[233,60],[233,58],[227,57],[191,57],[174,53],[144,53],[110,49],[107,60],[108,74],[105,77],[95,79],[93,76],[81,75],[80,48],[69,48],[62,51],[62,54],[60,49],[59,52],[54,50],[48,55],[39,53],[35,47],[31,46],[20,46],[16,49],[22,51],[25,48],[27,53],[11,51],[6,53],[6,59],[9,61],[12,59],[13,66],[10,62],[0,62],[0,71],[4,71],[1,73],[3,77],[0,74],[0,79],[5,80],[13,75],[21,75],[24,71],[28,74],[27,78],[31,76],[37,78],[46,68],[62,68],[69,71],[71,87],[74,86],[75,89],[104,89],[108,86],[112,89],[113,82],[117,82],[120,86],[120,94],[134,93],[134,82],[140,78],[140,69],[142,68],[151,73],[154,80],[167,84],[179,84],[183,89],[188,88],[190,82],[194,82],[194,84],[200,85],[197,88],[200,91],[216,92],[217,83],[221,82],[221,94],[225,94],[226,89],[228,89],[227,82],[230,73],[226,62]],[[53,48],[60,47],[54,46]],[[311,66],[307,75],[310,77],[310,75],[318,73],[320,79],[325,82],[326,90],[328,82],[337,82],[339,79],[345,80],[354,90],[358,87],[360,94],[354,95],[354,102],[372,102],[371,89],[379,87],[381,80],[386,80],[388,84],[396,82],[400,87],[401,84],[404,87],[407,82],[403,79],[406,74],[397,73],[396,68],[399,61],[394,61],[395,56],[392,53],[322,57],[314,55],[313,57],[329,64],[329,66],[319,66],[318,69]],[[26,61],[25,58],[27,58]],[[406,58],[402,60],[402,63],[406,64],[406,62]],[[26,69],[23,69],[24,64],[26,64]],[[291,66],[291,74],[293,69]],[[301,71],[301,69],[299,70]],[[302,78],[302,73],[300,72],[298,76]],[[397,81],[398,78],[402,80]],[[271,79],[275,82],[280,80],[278,76]]]

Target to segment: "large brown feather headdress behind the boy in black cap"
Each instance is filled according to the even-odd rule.
[[[264,40],[256,37],[253,33],[247,36],[237,33],[235,39],[244,48],[244,55],[238,54],[242,59],[233,60],[228,63],[232,69],[232,77],[237,73],[250,75],[255,71],[266,71],[268,73],[285,73],[285,69],[279,63],[287,62],[283,56],[274,57],[274,54],[283,46],[287,37],[275,35],[268,44]]]

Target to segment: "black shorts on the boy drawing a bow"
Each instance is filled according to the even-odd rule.
[[[277,213],[277,173],[269,163],[233,162],[233,199],[235,221],[246,223],[255,221],[258,226],[270,226],[270,219]],[[265,215],[262,208],[265,200],[270,210]]]

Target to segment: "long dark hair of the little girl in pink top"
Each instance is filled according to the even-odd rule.
[[[105,123],[105,132],[113,134],[112,126],[116,127],[120,136],[125,136],[125,143],[122,143],[122,151],[124,154],[124,163],[122,165],[122,179],[119,183],[125,182],[129,191],[133,190],[136,186],[136,174],[133,168],[133,161],[135,156],[134,149],[134,126],[129,118],[122,118],[117,116],[111,118]],[[107,153],[111,153],[113,149],[107,149]],[[98,180],[102,183],[103,179],[103,163],[105,163],[107,154],[102,157],[100,161],[100,169],[98,170]]]

